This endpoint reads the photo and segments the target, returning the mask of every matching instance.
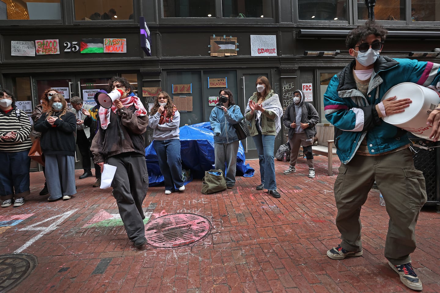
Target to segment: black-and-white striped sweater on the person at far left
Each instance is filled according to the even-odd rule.
[[[1,152],[19,152],[29,150],[32,146],[29,133],[30,121],[25,112],[14,108],[5,114],[0,110],[0,136],[5,136],[8,132],[17,133],[15,139],[4,140],[0,138]]]

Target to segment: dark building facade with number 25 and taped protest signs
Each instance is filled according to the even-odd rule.
[[[209,121],[225,85],[244,111],[264,75],[283,107],[294,89],[304,89],[328,123],[323,94],[352,60],[345,37],[368,18],[364,2],[0,0],[0,85],[30,113],[46,88],[92,103],[94,91],[119,75],[146,107],[158,88],[177,97],[184,125]],[[139,17],[149,28],[150,54]],[[389,29],[382,55],[436,62],[440,0],[378,0],[375,18]],[[276,144],[283,142],[280,133]],[[257,157],[252,139],[245,148],[246,157]]]

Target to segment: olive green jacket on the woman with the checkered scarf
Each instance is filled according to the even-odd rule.
[[[273,90],[270,90],[268,95],[264,98],[264,101],[269,99],[270,97],[278,95],[275,94]],[[253,100],[255,103],[258,101],[257,92],[254,92],[252,97],[250,97],[249,100]],[[264,106],[263,106],[264,107]],[[250,122],[250,125],[248,125],[250,136],[256,136],[258,135],[257,126],[255,125],[255,118],[257,115],[250,114],[250,111],[248,111],[249,108],[249,101],[246,106],[246,120]],[[271,110],[265,110],[263,113],[261,113],[261,133],[267,136],[275,136],[275,118],[276,114]]]

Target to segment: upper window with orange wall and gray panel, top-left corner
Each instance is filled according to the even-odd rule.
[[[0,19],[61,19],[59,0],[0,0]]]

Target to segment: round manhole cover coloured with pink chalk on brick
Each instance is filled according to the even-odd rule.
[[[205,217],[178,213],[160,216],[147,223],[147,243],[156,248],[189,246],[202,240],[210,231],[211,223]]]

